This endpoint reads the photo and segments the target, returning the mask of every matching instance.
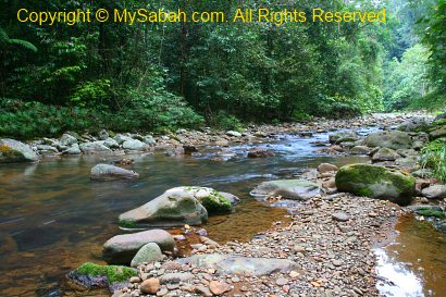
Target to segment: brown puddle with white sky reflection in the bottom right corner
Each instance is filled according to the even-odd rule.
[[[446,235],[428,222],[408,215],[396,226],[399,235],[385,249],[376,249],[379,282],[384,296],[443,297],[446,293]]]

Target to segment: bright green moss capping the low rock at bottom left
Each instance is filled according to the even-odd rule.
[[[137,270],[127,267],[98,265],[90,262],[82,264],[75,272],[90,276],[106,276],[111,284],[126,282],[132,276],[138,275]]]

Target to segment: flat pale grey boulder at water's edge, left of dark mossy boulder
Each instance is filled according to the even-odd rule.
[[[256,197],[282,196],[292,200],[308,200],[320,194],[318,184],[306,180],[278,180],[263,182],[250,194]]]

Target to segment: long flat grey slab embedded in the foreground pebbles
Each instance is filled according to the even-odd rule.
[[[221,253],[195,255],[176,260],[179,264],[191,264],[200,269],[215,269],[222,274],[250,274],[253,276],[273,273],[289,273],[297,270],[298,264],[287,259],[250,258]]]

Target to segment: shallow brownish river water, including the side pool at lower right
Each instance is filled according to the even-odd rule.
[[[85,261],[102,263],[102,244],[121,233],[116,225],[120,213],[175,186],[210,186],[238,196],[241,202],[235,213],[211,216],[206,228],[209,236],[220,243],[249,240],[286,215],[285,210],[270,208],[251,198],[249,191],[255,185],[267,180],[290,178],[302,169],[315,168],[321,162],[343,165],[368,160],[318,154],[319,147],[312,143],[326,140],[327,134],[311,138],[285,135],[268,144],[232,146],[223,156],[233,157],[227,162],[214,160],[218,148],[213,147],[202,148],[203,154],[197,157],[126,156],[135,159],[133,170],[140,174],[134,182],[95,183],[89,180],[91,166],[123,157],[85,156],[47,159],[36,164],[2,164],[0,296],[63,296],[60,282],[66,272]],[[277,157],[248,159],[246,150],[251,147],[271,149]],[[438,253],[446,255],[446,245],[444,240],[426,240],[419,247],[419,239],[410,235],[411,230],[402,231],[398,237],[404,249],[413,250],[421,259],[432,256],[431,252],[439,259],[438,262],[429,261],[434,268],[424,267],[424,262],[417,259],[418,267],[424,271],[418,269],[416,277],[422,287],[421,294],[425,294],[423,288],[435,283],[433,277],[445,277],[445,258]],[[430,230],[420,236],[432,238],[436,235]],[[389,248],[382,251],[381,256],[387,257],[387,262],[393,264],[404,263],[407,268],[406,263],[414,261],[413,257],[399,257],[405,253],[394,257]],[[406,275],[411,268],[407,269]]]

